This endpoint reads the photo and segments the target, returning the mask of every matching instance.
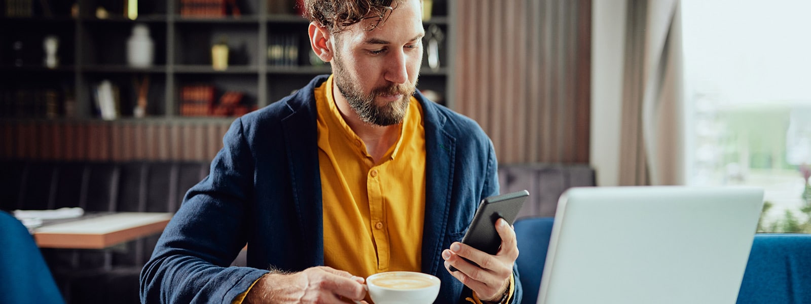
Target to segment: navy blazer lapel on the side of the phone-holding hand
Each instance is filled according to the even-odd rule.
[[[425,115],[426,187],[423,225],[423,272],[436,274],[440,266],[442,241],[448,225],[456,139],[443,131],[445,118],[437,105],[417,94]]]

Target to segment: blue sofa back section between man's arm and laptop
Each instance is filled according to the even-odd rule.
[[[547,247],[554,221],[554,217],[529,217],[513,224],[518,242],[518,278],[524,289],[521,303],[534,304],[538,300],[543,264],[547,260]]]

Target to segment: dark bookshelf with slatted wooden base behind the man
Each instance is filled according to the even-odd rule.
[[[0,159],[210,161],[245,108],[264,107],[330,72],[323,62],[312,64],[319,61],[311,61],[308,23],[294,12],[296,0],[236,0],[239,16],[231,0],[222,1],[221,16],[182,14],[200,0],[138,0],[135,20],[124,14],[128,1],[0,0]],[[104,18],[97,17],[99,6]],[[418,89],[442,97],[453,83],[453,7],[453,0],[433,0],[432,17],[423,21],[446,39],[439,68],[423,56]],[[136,24],[148,28],[152,66],[127,62]],[[45,66],[46,36],[58,41],[57,66]],[[217,70],[211,49],[223,37],[230,60]],[[113,84],[105,96],[114,96],[118,108],[109,120],[97,105],[104,81]],[[200,86],[214,90],[208,114],[195,108],[208,99],[183,102],[196,96],[188,88]],[[449,97],[437,101],[448,105]],[[135,115],[139,100],[146,101],[144,117]]]

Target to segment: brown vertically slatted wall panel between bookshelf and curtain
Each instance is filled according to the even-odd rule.
[[[460,0],[453,109],[501,163],[588,163],[591,0]]]

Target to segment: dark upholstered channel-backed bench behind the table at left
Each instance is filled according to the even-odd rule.
[[[0,209],[175,212],[208,162],[0,161]],[[138,303],[138,276],[159,236],[105,250],[42,249],[68,303]]]

